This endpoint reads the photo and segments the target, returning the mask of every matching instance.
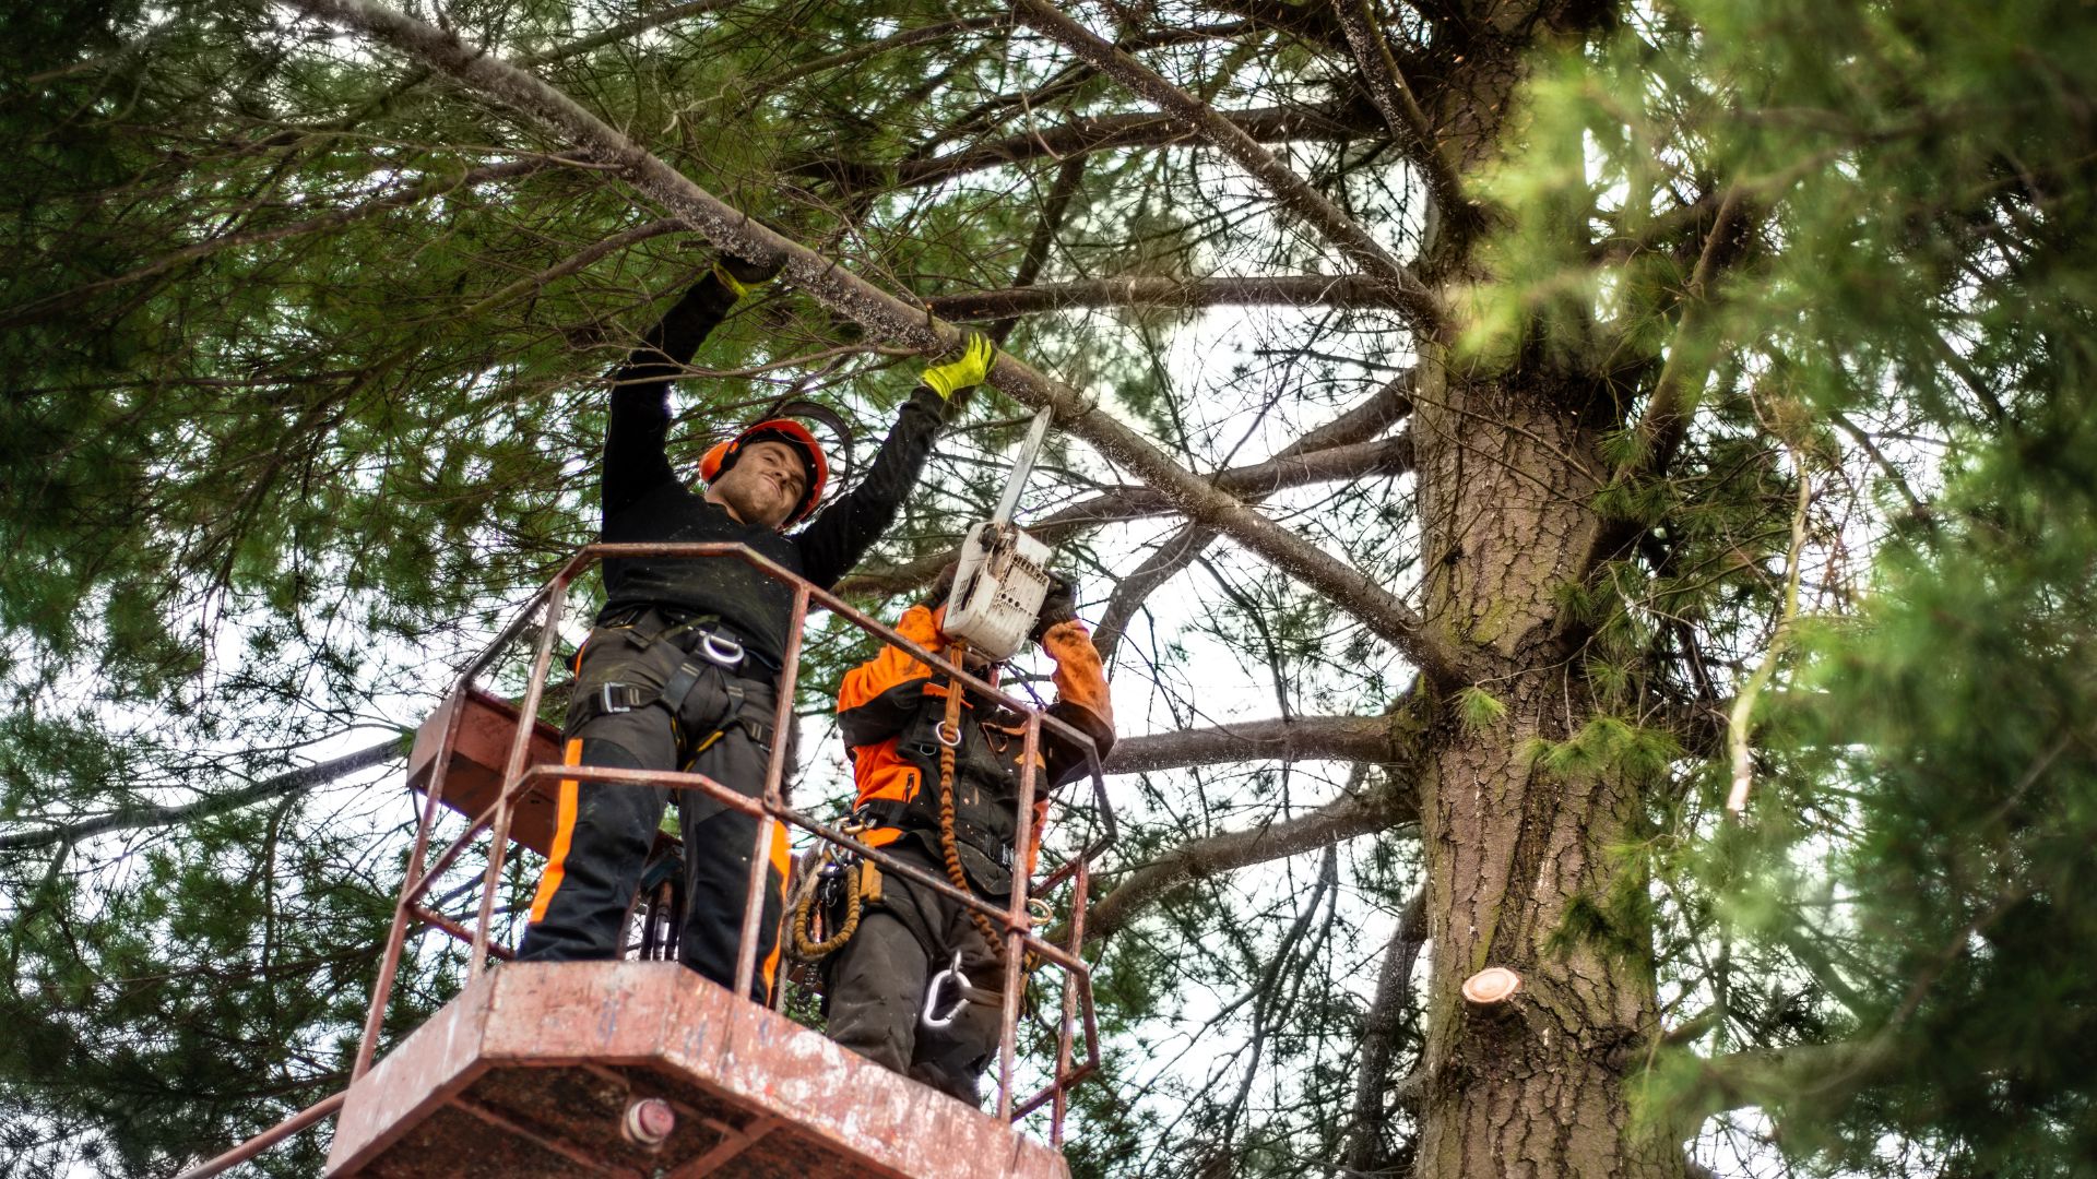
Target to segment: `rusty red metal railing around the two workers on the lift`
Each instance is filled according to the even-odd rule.
[[[807,619],[812,604],[822,604],[833,615],[845,619],[847,623],[872,634],[881,642],[900,646],[914,655],[916,659],[937,667],[939,671],[952,676],[965,684],[971,692],[994,699],[1015,713],[1025,717],[1025,738],[1021,755],[1021,778],[1019,778],[1019,831],[1015,837],[1017,848],[1030,848],[1034,841],[1034,799],[1038,793],[1036,783],[1036,755],[1040,751],[1042,726],[1048,726],[1059,738],[1086,751],[1088,774],[1093,780],[1093,799],[1101,816],[1101,835],[1093,839],[1078,856],[1065,862],[1061,869],[1051,873],[1040,885],[1032,885],[1023,873],[1013,875],[1013,889],[1004,906],[996,906],[988,900],[973,896],[971,892],[956,889],[950,881],[935,877],[914,864],[900,862],[879,848],[870,848],[851,835],[845,835],[837,827],[816,820],[814,816],[793,810],[786,806],[782,778],[786,772],[786,741],[774,741],[772,759],[765,768],[763,789],[757,795],[747,795],[734,787],[721,785],[705,774],[688,774],[673,770],[629,770],[629,768],[608,768],[608,766],[526,766],[526,751],[531,745],[531,730],[539,713],[539,703],[545,692],[545,676],[554,657],[554,636],[558,634],[560,621],[566,613],[568,590],[572,581],[591,564],[606,558],[640,558],[640,556],[663,556],[663,558],[726,558],[742,560],[755,566],[759,573],[784,581],[795,592],[793,617],[786,636],[786,650],[780,659],[780,682],[778,682],[778,705],[774,715],[774,732],[784,734],[793,722],[795,684],[799,678],[801,661],[801,629]],[[495,898],[501,885],[501,871],[510,850],[510,820],[514,814],[514,803],[531,787],[545,780],[591,780],[610,783],[627,787],[669,787],[675,791],[696,791],[713,801],[751,814],[759,820],[757,841],[751,848],[751,875],[747,881],[747,896],[742,908],[742,929],[736,955],[736,994],[749,994],[751,982],[757,969],[757,927],[763,921],[763,898],[765,898],[765,873],[768,848],[772,845],[772,833],[776,822],[786,822],[788,827],[803,829],[822,841],[837,848],[849,850],[874,864],[883,873],[893,873],[908,877],[910,881],[925,885],[948,900],[965,904],[977,913],[983,913],[1000,927],[1000,938],[1004,940],[1004,1009],[1000,1013],[1000,1034],[998,1034],[998,1116],[1007,1120],[1017,1120],[1042,1106],[1051,1108],[1051,1143],[1061,1145],[1063,1141],[1063,1118],[1067,1112],[1067,1091],[1082,1082],[1086,1076],[1099,1070],[1099,1026],[1093,1009],[1093,976],[1090,967],[1084,963],[1080,948],[1084,944],[1084,908],[1090,898],[1090,862],[1103,852],[1116,835],[1114,808],[1107,801],[1105,780],[1099,770],[1099,751],[1093,741],[1078,728],[1048,715],[1040,705],[1030,701],[1019,701],[1002,690],[994,688],[986,680],[973,676],[967,667],[952,665],[942,652],[927,650],[916,642],[904,638],[893,627],[864,615],[851,604],[839,600],[837,596],[818,590],[814,583],[801,579],[793,571],[772,562],[757,552],[738,543],[596,543],[581,550],[554,579],[541,587],[531,602],[518,610],[516,619],[476,657],[466,671],[459,673],[451,688],[451,701],[459,701],[474,682],[484,676],[533,623],[539,623],[537,648],[533,652],[531,678],[524,686],[524,699],[520,701],[518,730],[510,745],[510,757],[503,768],[503,789],[495,803],[484,808],[472,818],[466,833],[453,839],[436,860],[428,860],[432,831],[438,820],[438,808],[442,806],[445,791],[445,770],[449,766],[451,745],[457,736],[457,724],[463,709],[453,707],[449,730],[445,734],[442,749],[438,751],[432,776],[428,783],[428,793],[424,797],[421,818],[415,829],[415,843],[409,852],[407,879],[401,885],[401,898],[394,906],[392,929],[386,940],[386,952],[380,959],[380,976],[371,990],[371,1009],[365,1017],[365,1034],[356,1051],[356,1064],[352,1068],[350,1080],[354,1082],[371,1068],[371,1059],[377,1047],[380,1026],[386,1013],[386,1005],[392,994],[394,978],[401,967],[401,955],[407,944],[407,936],[413,925],[438,929],[461,942],[472,944],[472,955],[468,959],[468,973],[480,973],[487,969],[487,959],[507,957],[501,946],[491,942],[491,927],[495,921]],[[468,927],[459,921],[442,917],[424,904],[434,881],[449,871],[487,831],[493,835],[489,843],[489,862],[480,885],[480,908],[478,919]],[[1061,883],[1072,885],[1072,917],[1065,923],[1067,944],[1055,944],[1040,938],[1034,931],[1034,921],[1028,910],[1028,898],[1046,894]],[[791,919],[791,913],[782,913],[782,919]],[[780,931],[780,938],[786,934]],[[1019,1001],[1023,990],[1021,961],[1034,955],[1042,963],[1053,963],[1065,973],[1061,1020],[1057,1024],[1057,1057],[1048,1072],[1048,1085],[1034,1093],[1032,1097],[1017,1101],[1013,1095],[1013,1072],[1017,1062],[1017,1026],[1019,1026]],[[1082,1030],[1084,1059],[1076,1053],[1076,1034]]]

